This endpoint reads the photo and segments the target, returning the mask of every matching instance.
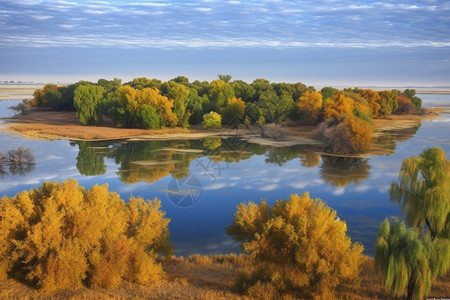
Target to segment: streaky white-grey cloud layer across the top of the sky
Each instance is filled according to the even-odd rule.
[[[2,47],[448,48],[450,6],[353,1],[12,1]],[[255,12],[258,13],[255,13]],[[83,12],[80,14],[80,12]],[[130,18],[133,15],[135,17]],[[52,19],[53,24],[30,22]],[[73,27],[66,20],[75,22]],[[180,20],[183,23],[180,23]],[[60,32],[58,27],[68,31]],[[412,30],[414,28],[414,30]],[[65,34],[70,34],[69,42]],[[12,42],[10,37],[20,36]],[[35,44],[36,36],[47,42]],[[95,36],[95,39],[90,37]],[[120,41],[120,42],[118,42]]]

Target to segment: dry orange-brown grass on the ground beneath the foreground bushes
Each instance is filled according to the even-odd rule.
[[[238,294],[234,286],[236,271],[251,268],[242,255],[193,255],[184,259],[161,260],[166,279],[152,286],[124,285],[117,290],[59,291],[41,293],[13,280],[0,281],[0,299],[251,299]],[[363,265],[358,289],[342,289],[337,299],[389,299],[389,290],[381,284],[381,275],[374,270],[373,259]],[[428,298],[450,296],[450,274],[435,282]],[[297,299],[286,293],[281,299]]]

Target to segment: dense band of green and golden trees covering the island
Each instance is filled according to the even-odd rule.
[[[421,102],[413,89],[316,91],[300,82],[271,83],[261,78],[249,84],[231,81],[230,75],[218,75],[211,82],[178,76],[167,82],[142,77],[123,84],[117,78],[49,84],[37,89],[31,100],[35,106],[75,110],[83,125],[100,125],[104,117],[118,127],[144,129],[323,122],[324,148],[333,153],[363,151],[372,138],[372,119],[412,113]]]

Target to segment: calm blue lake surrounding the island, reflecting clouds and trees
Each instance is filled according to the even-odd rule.
[[[424,107],[450,107],[449,95],[418,95]],[[0,101],[0,127],[19,100]],[[0,131],[0,151],[30,148],[36,158],[24,174],[0,173],[0,195],[14,196],[46,180],[75,178],[80,185],[109,185],[122,199],[131,194],[161,199],[175,254],[238,252],[225,228],[241,202],[287,199],[309,192],[337,210],[352,241],[374,254],[378,226],[400,216],[389,198],[404,158],[440,146],[450,153],[450,115],[423,121],[420,127],[386,132],[385,154],[368,158],[321,155],[314,145],[270,147],[235,136],[172,141],[43,141]]]

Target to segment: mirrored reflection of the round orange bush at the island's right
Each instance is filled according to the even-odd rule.
[[[352,182],[359,184],[370,174],[367,158],[322,155],[320,176],[334,186],[346,186]]]

